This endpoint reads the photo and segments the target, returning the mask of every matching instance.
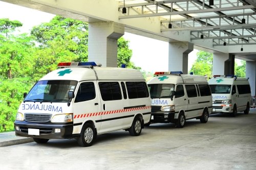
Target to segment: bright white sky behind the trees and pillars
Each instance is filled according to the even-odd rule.
[[[42,22],[49,22],[54,16],[46,12],[0,1],[0,18],[22,22],[23,27],[19,28],[20,33],[29,33],[33,26],[40,25]],[[123,37],[130,41],[129,47],[133,51],[131,61],[136,66],[148,72],[168,71],[168,42],[130,33],[125,33]],[[188,70],[196,59],[196,52],[194,50],[188,55]],[[156,60],[158,61],[156,62]]]

